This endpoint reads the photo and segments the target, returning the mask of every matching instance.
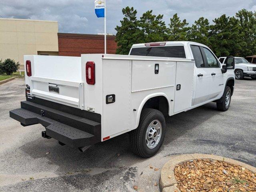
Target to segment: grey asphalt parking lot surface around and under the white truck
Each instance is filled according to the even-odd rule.
[[[98,143],[84,154],[54,139],[44,127],[22,127],[9,110],[25,100],[24,79],[0,86],[0,191],[158,191],[160,170],[172,155],[205,153],[256,166],[256,80],[237,80],[230,109],[210,103],[166,119],[158,154],[142,159],[130,150],[128,134]]]

